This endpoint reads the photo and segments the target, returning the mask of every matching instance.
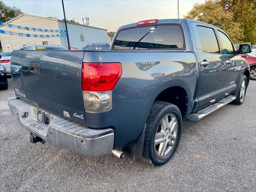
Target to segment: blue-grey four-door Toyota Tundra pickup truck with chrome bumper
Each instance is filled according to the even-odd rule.
[[[144,20],[120,27],[109,51],[13,51],[8,105],[32,143],[160,166],[183,120],[244,102],[250,68],[240,54],[248,52],[210,24]]]

